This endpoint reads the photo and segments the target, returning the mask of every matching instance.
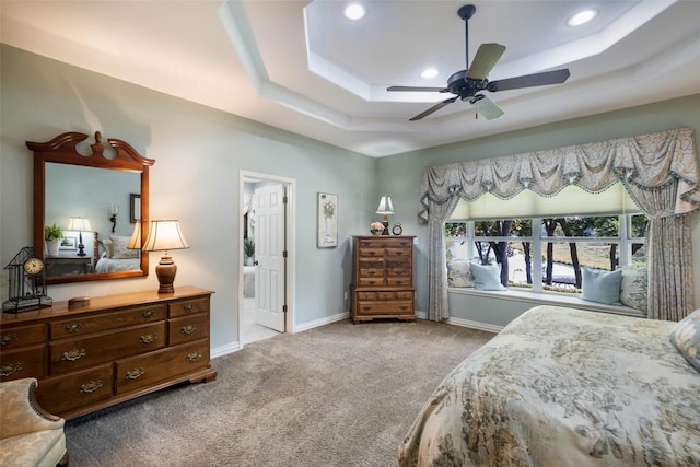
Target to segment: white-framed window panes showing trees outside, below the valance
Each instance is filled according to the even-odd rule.
[[[501,264],[501,282],[545,293],[581,292],[582,268],[646,265],[643,214],[445,223],[447,261]]]

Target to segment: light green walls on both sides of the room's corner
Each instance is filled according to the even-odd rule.
[[[47,141],[63,131],[101,130],[105,138],[128,141],[155,159],[151,214],[178,218],[190,243],[190,249],[174,253],[175,285],[191,283],[217,291],[214,348],[236,340],[240,171],[296,180],[295,323],[303,325],[348,310],[343,293],[351,276],[349,238],[366,233],[369,222],[380,218],[373,211],[383,194],[394,201],[390,223],[401,222],[406,235],[417,235],[417,307],[425,311],[427,230],[416,217],[425,166],[680,126],[700,128],[700,95],[696,95],[374,160],[9,46],[1,46],[0,54],[0,264],[9,262],[32,240],[32,156],[24,142]],[[316,248],[317,191],[339,196],[337,248]],[[693,265],[700,265],[699,222],[695,215]],[[151,258],[151,265],[156,260]],[[7,283],[4,270],[2,283]],[[55,285],[49,294],[66,300],[156,287],[151,273],[144,279]],[[5,295],[2,287],[0,297]],[[521,307],[512,303],[451,297],[453,316],[497,326],[520,314]],[[700,307],[698,280],[696,306]]]

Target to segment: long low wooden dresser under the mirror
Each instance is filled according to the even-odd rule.
[[[177,383],[213,381],[211,294],[178,287],[3,313],[0,381],[38,378],[39,405],[66,419]]]

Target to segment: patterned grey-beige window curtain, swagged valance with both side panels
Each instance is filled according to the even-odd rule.
[[[690,128],[425,167],[418,218],[429,224],[429,319],[448,316],[442,225],[458,198],[472,201],[491,192],[510,199],[524,189],[546,197],[571,184],[599,192],[618,182],[650,218],[649,316],[686,316],[692,308],[693,282],[685,215],[700,208],[698,180]]]

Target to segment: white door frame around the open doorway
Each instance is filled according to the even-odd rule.
[[[271,182],[287,186],[287,222],[284,226],[284,235],[287,237],[287,314],[284,316],[284,328],[287,332],[293,334],[294,330],[294,303],[296,291],[296,278],[294,271],[296,258],[296,180],[288,177],[280,177],[271,174],[262,174],[258,172],[238,171],[238,312],[237,312],[237,340],[238,347],[243,348],[243,214],[245,212],[245,183],[247,179],[259,182]]]

